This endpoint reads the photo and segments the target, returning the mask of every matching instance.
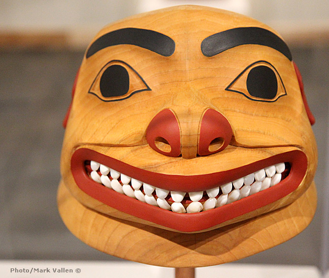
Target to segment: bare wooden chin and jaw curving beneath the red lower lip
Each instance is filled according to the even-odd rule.
[[[166,267],[235,261],[283,243],[304,230],[316,208],[315,184],[291,205],[203,233],[186,234],[124,221],[90,210],[60,183],[59,213],[87,245],[126,260]]]

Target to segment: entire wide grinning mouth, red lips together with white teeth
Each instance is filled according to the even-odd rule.
[[[80,148],[71,169],[78,187],[121,212],[181,232],[209,229],[294,191],[307,171],[301,150],[280,153],[232,170],[167,175]]]

